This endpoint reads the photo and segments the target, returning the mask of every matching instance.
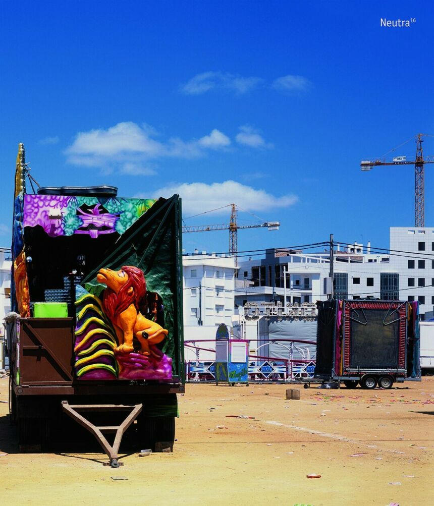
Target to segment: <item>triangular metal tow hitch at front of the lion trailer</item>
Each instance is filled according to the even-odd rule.
[[[104,463],[104,466],[111,466],[112,468],[119,468],[123,462],[117,460],[119,447],[121,446],[122,437],[125,431],[130,427],[133,421],[137,418],[142,410],[142,404],[132,404],[130,406],[124,404],[68,404],[68,401],[62,401],[62,410],[75,420],[78,424],[92,433],[98,443],[101,445],[104,452],[110,459],[109,463]],[[103,411],[129,411],[127,417],[121,425],[113,426],[97,426],[90,420],[83,416],[82,412],[103,412]],[[114,442],[112,445],[107,441],[103,433],[115,433]]]

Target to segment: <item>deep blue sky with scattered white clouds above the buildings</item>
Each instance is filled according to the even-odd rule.
[[[428,1],[3,0],[0,243],[24,142],[42,186],[178,191],[184,217],[235,202],[281,221],[279,232],[240,231],[240,250],[330,233],[387,247],[389,226],[414,224],[413,167],[362,173],[360,161],[434,134],[433,22]],[[390,156],[414,152],[411,141]],[[185,223],[228,219],[225,208]],[[184,234],[183,245],[225,251],[228,232]]]

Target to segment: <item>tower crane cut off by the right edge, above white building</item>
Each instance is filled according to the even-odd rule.
[[[422,137],[432,137],[428,134],[417,134],[416,158],[414,161],[407,160],[405,156],[396,156],[391,162],[385,160],[362,160],[360,166],[362,171],[370,171],[378,165],[414,165],[414,222],[415,227],[425,226],[425,189],[424,171],[425,163],[434,163],[434,156],[427,156],[423,159]],[[408,141],[406,141],[408,142]],[[405,143],[404,143],[405,144]],[[401,144],[402,146],[403,144]],[[400,146],[398,146],[400,147]],[[397,149],[397,148],[394,148]],[[392,150],[393,151],[393,150]]]

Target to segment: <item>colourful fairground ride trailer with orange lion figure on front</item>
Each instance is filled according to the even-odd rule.
[[[125,433],[136,449],[172,451],[185,384],[179,196],[27,193],[27,176],[20,144],[6,317],[20,449],[95,437],[118,467]]]

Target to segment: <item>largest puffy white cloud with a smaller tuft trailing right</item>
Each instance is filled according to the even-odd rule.
[[[183,141],[173,137],[167,142],[156,140],[151,126],[132,121],[117,123],[104,130],[79,132],[66,149],[67,161],[74,165],[101,167],[106,173],[115,170],[129,175],[152,175],[149,160],[163,157],[195,158],[207,150],[223,149],[230,139],[217,129],[199,139]]]

